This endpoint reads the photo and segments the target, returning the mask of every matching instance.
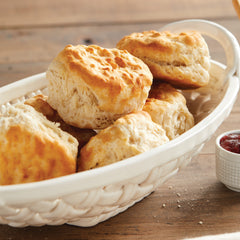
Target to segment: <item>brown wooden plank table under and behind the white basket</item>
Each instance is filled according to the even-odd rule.
[[[189,18],[222,24],[240,41],[240,20],[227,0],[1,1],[0,86],[44,72],[69,43],[114,47],[131,32]],[[209,44],[224,62],[221,47]],[[240,194],[216,179],[214,155],[216,136],[240,128],[239,119],[238,98],[201,154],[124,213],[91,228],[0,225],[0,239],[184,239],[240,231]]]

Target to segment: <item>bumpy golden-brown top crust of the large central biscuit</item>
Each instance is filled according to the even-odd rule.
[[[147,65],[126,50],[67,45],[56,61],[81,78],[100,99],[108,98],[108,101],[109,96],[114,101],[114,97],[124,96],[125,92],[129,95],[129,91],[132,96],[139,95],[144,87],[152,84]]]

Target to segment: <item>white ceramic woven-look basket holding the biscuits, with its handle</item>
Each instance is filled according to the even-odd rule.
[[[239,45],[229,31],[212,22],[188,20],[164,29],[198,30],[225,49],[227,67],[212,61],[210,86],[184,92],[197,124],[165,145],[105,167],[41,182],[0,186],[1,224],[93,226],[153,192],[201,151],[237,97]],[[47,94],[44,73],[4,86],[0,88],[1,110],[42,92]]]

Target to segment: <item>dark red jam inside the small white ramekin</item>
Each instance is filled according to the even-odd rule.
[[[227,151],[240,153],[240,133],[230,133],[220,139],[220,146]]]

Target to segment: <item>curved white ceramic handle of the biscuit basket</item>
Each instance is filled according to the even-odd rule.
[[[240,77],[239,44],[234,35],[223,26],[211,21],[191,19],[167,24],[160,29],[160,31],[163,30],[173,32],[195,30],[217,40],[222,45],[227,58],[227,68],[225,69],[225,74],[223,75],[223,83],[235,74],[238,78]]]

